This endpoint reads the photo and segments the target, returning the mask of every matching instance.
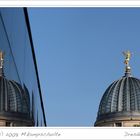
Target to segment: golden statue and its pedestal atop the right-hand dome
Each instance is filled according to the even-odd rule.
[[[130,51],[125,51],[123,52],[124,56],[125,56],[125,76],[129,77],[131,76],[131,67],[129,65],[129,61],[130,61],[130,58],[131,58],[131,55],[132,53]]]

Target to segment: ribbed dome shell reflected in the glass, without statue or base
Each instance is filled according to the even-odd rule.
[[[18,112],[28,114],[30,101],[27,90],[15,81],[0,76],[0,112]]]

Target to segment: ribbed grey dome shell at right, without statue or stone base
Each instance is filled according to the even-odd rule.
[[[99,105],[96,123],[121,116],[140,116],[140,80],[129,75],[107,88]]]

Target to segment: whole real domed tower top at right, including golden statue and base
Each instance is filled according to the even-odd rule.
[[[125,51],[123,54],[125,75],[103,94],[95,126],[140,126],[140,79],[131,75],[132,53]]]

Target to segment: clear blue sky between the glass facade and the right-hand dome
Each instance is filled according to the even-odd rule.
[[[48,126],[93,126],[130,50],[140,78],[140,8],[29,8]]]

